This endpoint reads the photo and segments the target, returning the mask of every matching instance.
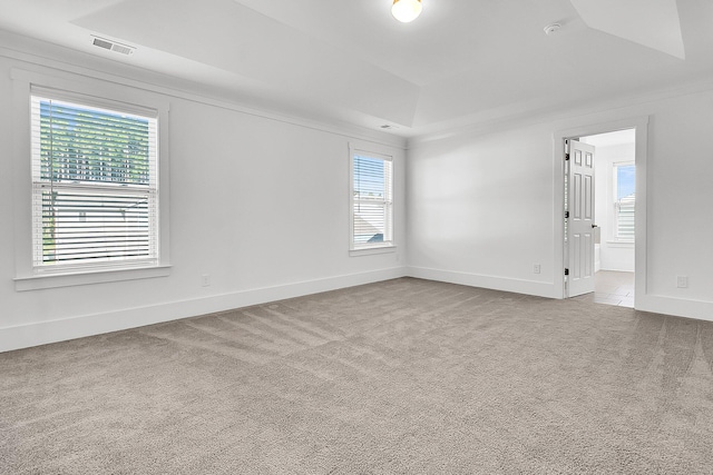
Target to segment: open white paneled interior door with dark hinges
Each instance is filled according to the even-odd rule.
[[[567,140],[568,296],[594,291],[594,147]]]

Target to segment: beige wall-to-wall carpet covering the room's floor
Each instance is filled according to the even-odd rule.
[[[713,324],[411,278],[0,354],[2,474],[711,474]]]

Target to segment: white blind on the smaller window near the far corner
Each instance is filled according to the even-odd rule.
[[[393,164],[352,155],[352,248],[393,245]]]

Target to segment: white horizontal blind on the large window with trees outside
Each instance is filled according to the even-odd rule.
[[[36,273],[158,264],[157,122],[33,90]]]

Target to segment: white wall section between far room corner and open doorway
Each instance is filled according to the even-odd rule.
[[[547,127],[417,144],[407,217],[414,275],[554,297]],[[541,266],[534,274],[534,265]]]

